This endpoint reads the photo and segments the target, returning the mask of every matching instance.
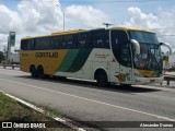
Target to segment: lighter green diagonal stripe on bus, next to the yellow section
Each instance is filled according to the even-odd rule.
[[[57,71],[66,72],[73,63],[79,49],[69,49]]]

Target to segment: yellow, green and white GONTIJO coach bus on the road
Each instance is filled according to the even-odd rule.
[[[20,69],[32,76],[96,80],[100,86],[163,81],[163,58],[154,32],[113,27],[56,32],[21,40]]]

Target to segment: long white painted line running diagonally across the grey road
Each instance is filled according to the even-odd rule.
[[[107,104],[107,103],[103,103],[103,102],[100,102],[100,100],[84,98],[84,97],[77,96],[77,95],[71,95],[71,94],[67,94],[67,93],[62,93],[62,92],[57,92],[57,91],[51,91],[51,90],[47,90],[47,88],[43,88],[43,87],[39,87],[39,86],[30,85],[30,84],[25,84],[25,83],[21,83],[21,82],[15,82],[15,81],[10,81],[10,80],[4,80],[4,79],[0,79],[0,80],[1,81],[5,81],[5,82],[10,82],[10,83],[14,83],[14,84],[30,86],[30,87],[33,87],[33,88],[38,88],[38,90],[51,92],[51,93],[67,95],[67,96],[70,96],[70,97],[74,97],[74,98],[79,98],[79,99],[83,99],[83,100],[88,100],[88,102],[93,102],[93,103],[97,103],[97,104],[102,104],[102,105],[106,105],[106,106],[110,106],[110,107],[115,107],[115,108],[119,108],[119,109],[124,109],[124,110],[139,112],[139,114],[142,114],[142,115],[155,117],[155,118],[159,118],[159,119],[164,119],[164,120],[167,120],[167,121],[175,121],[175,119],[171,119],[171,118],[167,118],[167,117],[163,117],[163,116],[159,116],[159,115],[154,115],[154,114],[149,114],[149,112],[144,112],[144,111],[139,111],[139,110],[136,110],[136,109],[130,109],[130,108],[126,108],[126,107],[121,107],[121,106],[117,106],[117,105],[113,105],[113,104]]]

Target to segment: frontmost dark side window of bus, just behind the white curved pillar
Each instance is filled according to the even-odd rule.
[[[94,48],[109,48],[108,31],[97,31],[93,33]]]

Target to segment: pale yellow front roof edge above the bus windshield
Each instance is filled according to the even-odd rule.
[[[136,27],[136,26],[117,26],[117,27],[112,27],[114,29],[126,29],[126,31],[140,31],[140,32],[149,32],[149,33],[154,33],[153,31]]]

